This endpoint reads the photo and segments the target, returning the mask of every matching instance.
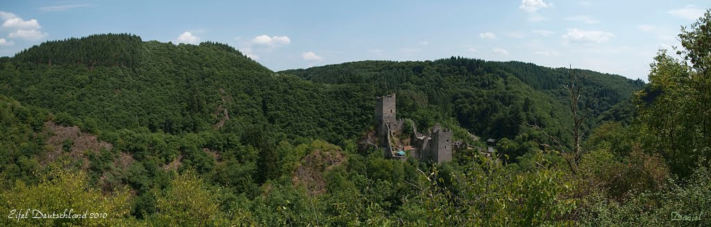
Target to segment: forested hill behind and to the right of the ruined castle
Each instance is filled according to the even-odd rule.
[[[608,117],[607,111],[629,120],[634,110],[613,108],[629,104],[641,80],[590,70],[547,68],[531,63],[493,62],[452,57],[425,62],[363,61],[326,65],[306,70],[285,70],[315,83],[358,85],[376,94],[397,93],[398,114],[416,120],[420,128],[436,122],[454,122],[469,132],[511,141],[506,154],[516,157],[538,147],[527,142],[550,143],[549,138],[530,125],[570,144],[572,118],[565,86],[570,74],[582,79],[585,134]],[[450,120],[451,119],[451,120]]]

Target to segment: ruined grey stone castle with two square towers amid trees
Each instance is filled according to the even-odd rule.
[[[383,149],[387,158],[405,160],[407,152],[410,157],[425,161],[442,163],[451,161],[452,132],[437,124],[427,134],[420,134],[417,128],[412,128],[410,144],[396,143],[395,136],[402,132],[404,121],[396,120],[395,94],[377,97],[375,100],[375,122],[378,147]]]

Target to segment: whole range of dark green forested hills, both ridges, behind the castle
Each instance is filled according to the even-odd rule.
[[[400,117],[415,120],[419,128],[444,122],[483,137],[515,140],[507,151],[512,158],[537,149],[526,142],[548,140],[527,124],[569,144],[562,130],[572,124],[565,110],[566,73],[583,75],[589,98],[582,105],[590,114],[584,132],[643,84],[589,70],[466,58],[365,61],[275,74],[220,43],[175,46],[128,34],[43,43],[4,66],[4,94],[90,132],[180,134],[219,127],[242,133],[261,127],[292,142],[303,137],[340,144],[373,125],[375,96],[398,93]]]

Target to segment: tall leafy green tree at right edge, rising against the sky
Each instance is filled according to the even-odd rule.
[[[649,85],[636,93],[643,133],[654,134],[646,149],[661,154],[675,174],[690,176],[711,160],[711,15],[706,11],[691,30],[682,29],[681,59],[660,51]]]

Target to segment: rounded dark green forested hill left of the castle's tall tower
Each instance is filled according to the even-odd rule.
[[[175,46],[127,34],[43,43],[4,63],[1,73],[3,94],[92,132],[270,125],[292,139],[341,142],[367,127],[374,105],[363,95],[368,90],[274,75],[221,43]]]

